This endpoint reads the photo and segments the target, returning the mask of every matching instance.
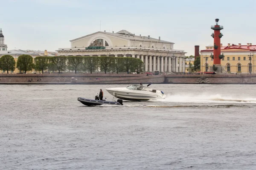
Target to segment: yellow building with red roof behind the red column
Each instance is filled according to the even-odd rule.
[[[201,71],[209,71],[209,67],[213,65],[213,59],[210,57],[213,54],[213,47],[207,45],[205,50],[201,50]],[[247,43],[247,45],[227,44],[222,46],[221,54],[224,58],[221,59],[221,65],[224,66],[222,72],[231,74],[254,74],[256,73],[256,55],[254,55],[256,45]]]

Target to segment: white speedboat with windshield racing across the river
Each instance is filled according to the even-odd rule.
[[[151,85],[151,84],[149,84]],[[148,85],[148,86],[149,86]],[[146,101],[150,99],[164,99],[166,95],[163,91],[154,90],[143,85],[128,85],[126,88],[107,88],[109,94],[124,100]]]

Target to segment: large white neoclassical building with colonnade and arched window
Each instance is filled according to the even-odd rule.
[[[70,40],[71,48],[59,48],[61,56],[112,56],[134,57],[144,62],[144,71],[185,72],[185,54],[175,50],[174,43],[135,35],[126,30],[119,32],[98,31]],[[86,49],[93,42],[98,42],[105,49]]]

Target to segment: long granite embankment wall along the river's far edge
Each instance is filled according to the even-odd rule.
[[[256,84],[252,74],[0,74],[0,84]]]

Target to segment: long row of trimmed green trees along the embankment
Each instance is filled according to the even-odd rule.
[[[16,66],[15,66],[16,65]],[[93,71],[100,68],[105,74],[108,71],[115,71],[117,74],[119,72],[125,71],[140,73],[143,71],[144,65],[140,59],[132,57],[82,57],[82,56],[54,56],[54,57],[33,57],[30,55],[21,55],[15,63],[15,59],[11,55],[4,55],[0,58],[0,69],[3,71],[14,71],[15,67],[20,71],[41,71],[44,73],[48,71]]]

